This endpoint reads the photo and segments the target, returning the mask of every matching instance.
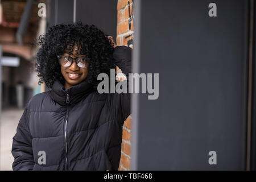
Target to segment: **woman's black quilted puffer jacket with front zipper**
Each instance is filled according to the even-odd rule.
[[[131,48],[116,47],[114,59],[123,73],[131,71]],[[117,170],[129,114],[130,94],[99,94],[86,79],[67,90],[55,81],[25,107],[13,137],[13,169]],[[46,164],[39,164],[42,151]]]

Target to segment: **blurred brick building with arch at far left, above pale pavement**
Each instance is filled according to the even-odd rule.
[[[33,72],[36,40],[39,24],[38,7],[33,5],[32,12],[24,27],[22,41],[18,42],[18,29],[22,20],[26,1],[1,1],[2,21],[0,24],[0,44],[2,47],[2,107],[24,106],[34,94],[36,74]],[[23,22],[24,24],[24,22]],[[7,59],[7,60],[6,60]],[[6,61],[5,61],[6,60]],[[19,103],[17,86],[23,88],[23,103]]]

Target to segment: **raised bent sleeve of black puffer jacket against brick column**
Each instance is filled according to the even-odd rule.
[[[128,86],[128,74],[131,73],[131,52],[132,49],[127,46],[117,46],[114,49],[114,60],[115,64],[125,73],[127,77],[127,86]],[[128,92],[127,87],[127,92]],[[115,95],[118,103],[117,107],[121,109],[123,122],[131,114],[131,94],[130,93],[121,93]],[[123,124],[123,122],[121,124]]]

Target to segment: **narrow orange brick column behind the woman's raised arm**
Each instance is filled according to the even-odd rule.
[[[117,46],[133,48],[133,0],[118,0],[117,3]],[[120,70],[119,70],[120,71]],[[130,170],[131,161],[131,115],[123,125],[121,159],[118,170]]]

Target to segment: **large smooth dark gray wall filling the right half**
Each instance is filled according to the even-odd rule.
[[[245,169],[247,1],[211,2],[135,1],[134,72],[159,98],[133,96],[132,169]]]

